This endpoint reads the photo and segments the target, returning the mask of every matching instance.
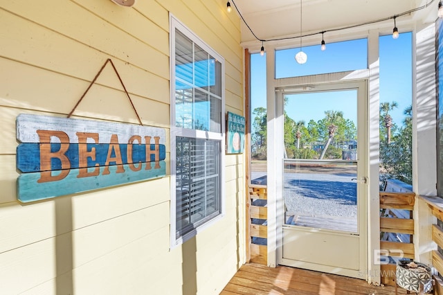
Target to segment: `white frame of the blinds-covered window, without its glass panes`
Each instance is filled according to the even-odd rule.
[[[176,127],[176,120],[175,120],[175,30],[176,28],[182,33],[183,35],[186,35],[189,39],[192,40],[195,44],[197,44],[200,48],[204,49],[207,53],[209,53],[211,56],[215,57],[217,61],[221,63],[221,132],[210,132],[210,131],[204,131],[204,130],[198,130],[198,129],[186,129],[181,127]],[[182,244],[183,242],[186,242],[190,238],[194,237],[199,233],[200,231],[206,229],[208,226],[213,224],[214,222],[217,222],[217,220],[220,220],[225,215],[225,192],[224,192],[224,184],[225,184],[225,177],[224,177],[224,170],[225,170],[225,138],[226,138],[226,118],[225,118],[225,61],[224,57],[219,55],[216,51],[213,50],[213,48],[210,48],[205,42],[203,42],[195,33],[192,32],[188,27],[186,27],[181,21],[179,21],[174,15],[170,13],[170,118],[171,118],[171,131],[170,131],[170,170],[171,170],[171,220],[170,220],[170,237],[171,237],[171,244],[170,248],[174,248]],[[197,226],[195,229],[192,229],[192,231],[186,233],[185,235],[181,235],[179,238],[176,237],[176,202],[177,202],[177,196],[176,196],[176,137],[177,136],[183,136],[183,137],[189,137],[189,138],[197,138],[197,139],[211,139],[211,140],[217,140],[220,141],[220,154],[219,154],[219,175],[220,175],[220,183],[219,183],[219,190],[220,190],[220,214],[216,217],[213,217],[212,219],[204,222],[204,224],[201,224]]]

